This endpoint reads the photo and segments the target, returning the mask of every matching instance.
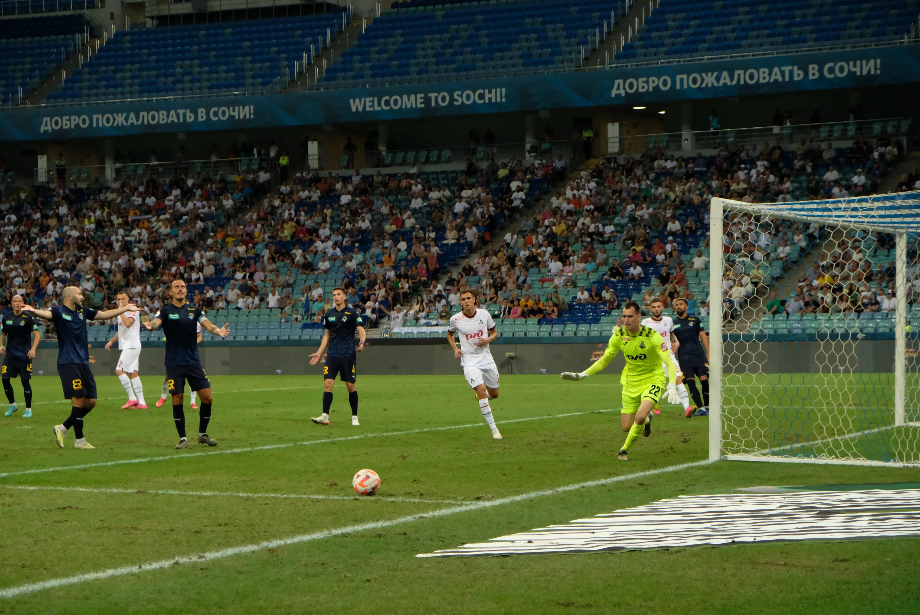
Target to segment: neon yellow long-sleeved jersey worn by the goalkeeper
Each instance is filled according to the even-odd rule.
[[[677,378],[677,369],[674,367],[671,352],[661,339],[661,335],[658,331],[645,326],[637,333],[630,333],[625,327],[615,327],[614,334],[610,336],[610,342],[607,342],[604,356],[595,361],[594,365],[585,372],[589,376],[596,374],[610,365],[620,351],[627,359],[626,369],[620,376],[620,382],[624,385],[654,378],[664,379],[662,363],[668,366],[667,377],[670,382],[673,383]]]

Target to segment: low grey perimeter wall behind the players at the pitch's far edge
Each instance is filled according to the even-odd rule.
[[[592,360],[604,352],[606,341],[591,343],[495,343],[492,356],[500,367],[501,374],[559,374],[573,369],[584,369]],[[44,376],[57,375],[57,350],[53,343],[42,342],[34,361],[33,373]],[[839,346],[839,347],[837,347]],[[891,372],[894,356],[894,342],[890,340],[865,340],[859,344],[858,354],[852,352],[852,342],[759,342],[752,344],[749,356],[735,355],[735,363],[726,367],[727,373],[743,373],[745,365],[753,365],[764,373],[822,373],[829,369],[844,372]],[[754,351],[758,354],[754,356]],[[319,376],[322,364],[309,365],[309,354],[316,352],[316,346],[274,345],[246,346],[228,345],[222,342],[206,342],[200,348],[201,362],[213,376],[270,375],[281,370],[285,375]],[[514,353],[513,361],[506,358]],[[106,351],[91,348],[95,359],[93,373],[97,377],[111,376],[118,362],[117,350]],[[763,361],[763,355],[768,360]],[[164,349],[144,348],[141,354],[142,375],[163,375]],[[829,357],[833,357],[833,360]],[[845,365],[831,365],[829,361]],[[623,369],[622,355],[617,356],[607,368],[607,373],[616,374]],[[358,374],[434,375],[461,374],[460,364],[454,359],[447,342],[443,340],[372,340],[358,356]]]

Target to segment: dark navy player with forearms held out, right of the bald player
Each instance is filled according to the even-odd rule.
[[[208,422],[211,421],[211,382],[208,375],[201,367],[201,357],[198,355],[198,323],[201,328],[214,335],[226,337],[230,332],[227,324],[218,328],[211,320],[201,313],[201,308],[189,303],[186,297],[189,290],[181,279],[173,280],[169,284],[171,300],[160,308],[153,320],[144,322],[148,331],[155,331],[163,327],[167,337],[167,385],[173,398],[173,420],[178,431],[177,448],[188,448],[189,441],[185,435],[185,411],[182,409],[185,383],[189,389],[198,392],[201,398],[201,408],[198,411],[198,442],[209,447],[216,447],[217,440],[208,435]]]

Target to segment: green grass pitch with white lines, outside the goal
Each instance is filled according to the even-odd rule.
[[[459,374],[359,377],[358,427],[341,384],[320,427],[318,377],[213,377],[220,446],[178,451],[168,401],[153,406],[160,377],[144,377],[145,411],[119,409],[114,376],[97,381],[96,450],[73,434],[52,444],[69,412],[56,377],[33,378],[33,418],[0,417],[0,613],[920,608],[916,539],[416,557],[680,495],[920,482],[914,469],[709,464],[707,419],[674,406],[617,461],[618,375],[502,376],[500,441]],[[193,431],[188,398],[186,413]],[[362,468],[381,476],[374,497],[351,489]]]

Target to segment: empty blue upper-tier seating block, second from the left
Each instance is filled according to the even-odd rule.
[[[50,101],[280,90],[304,53],[328,47],[343,15],[121,30]]]

